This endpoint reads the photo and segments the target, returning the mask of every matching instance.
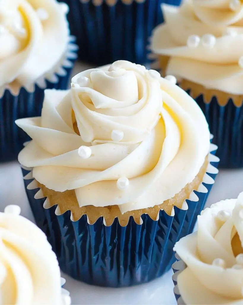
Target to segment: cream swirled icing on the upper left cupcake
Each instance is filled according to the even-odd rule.
[[[0,89],[28,88],[67,50],[67,5],[56,0],[0,1]]]

